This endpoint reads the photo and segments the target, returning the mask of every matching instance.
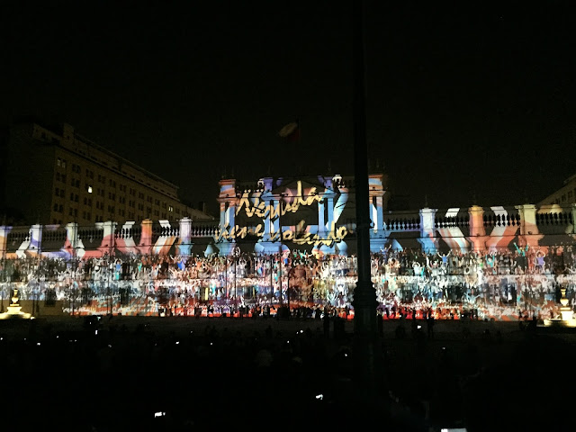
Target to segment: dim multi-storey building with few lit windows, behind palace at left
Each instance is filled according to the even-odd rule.
[[[178,199],[177,187],[84,139],[69,124],[14,125],[6,139],[4,203],[28,223],[211,220]]]

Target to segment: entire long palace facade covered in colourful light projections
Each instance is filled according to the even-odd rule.
[[[576,204],[387,211],[370,175],[372,283],[398,318],[519,320],[576,308]],[[0,227],[0,293],[40,314],[329,308],[353,316],[353,178],[220,180],[220,219]],[[51,308],[51,309],[50,309]],[[242,311],[242,312],[240,312]]]

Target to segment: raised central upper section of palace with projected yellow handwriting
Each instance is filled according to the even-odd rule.
[[[386,186],[385,175],[369,176],[375,227],[383,223]],[[349,255],[356,249],[353,177],[264,177],[257,184],[226,179],[220,181],[218,201],[220,228],[215,241],[223,255],[233,247],[257,254],[300,249],[314,255]],[[382,231],[374,233],[373,251],[379,251]]]

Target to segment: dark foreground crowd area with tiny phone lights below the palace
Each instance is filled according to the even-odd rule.
[[[374,378],[374,401],[366,406],[356,397],[353,322],[329,324],[116,316],[0,321],[4,426],[575,427],[574,332],[455,320],[436,322],[428,334],[426,321],[384,321],[376,353],[383,376]]]

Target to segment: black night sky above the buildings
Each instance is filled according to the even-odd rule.
[[[214,211],[222,175],[354,174],[351,3],[202,3],[3,2],[0,121],[67,121]],[[576,173],[572,4],[366,2],[368,153],[394,193],[510,205]]]

